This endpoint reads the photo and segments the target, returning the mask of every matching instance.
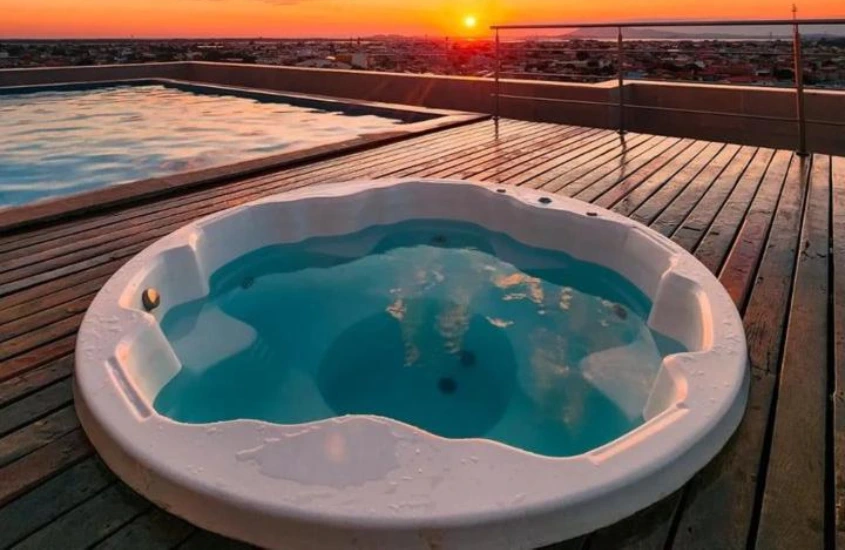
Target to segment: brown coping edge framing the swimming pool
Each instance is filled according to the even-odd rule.
[[[382,113],[408,113],[429,117],[426,120],[407,122],[398,129],[388,132],[364,134],[352,139],[317,145],[298,151],[279,153],[235,163],[179,172],[169,176],[159,176],[127,183],[111,185],[103,188],[83,191],[66,196],[58,196],[38,200],[20,206],[0,207],[0,234],[9,233],[33,225],[43,224],[58,218],[72,218],[107,211],[112,208],[126,206],[132,202],[173,195],[199,187],[213,187],[225,183],[254,177],[261,174],[292,168],[311,162],[327,160],[341,155],[373,149],[403,141],[412,137],[447,130],[474,122],[481,122],[491,118],[490,115],[450,111],[444,109],[428,109],[422,107],[408,107],[391,103],[379,103],[360,100],[346,100],[310,94],[266,91],[258,88],[236,86],[219,86],[204,83],[194,83],[188,80],[167,78],[140,78],[111,80],[104,82],[57,82],[39,84],[36,86],[5,86],[0,87],[0,94],[7,91],[37,92],[60,89],[96,89],[114,85],[144,85],[161,84],[179,89],[203,89],[212,93],[237,95],[239,97],[268,97],[279,100],[292,99],[299,104],[304,102],[336,104],[337,110],[343,108],[366,109]],[[385,116],[391,116],[387,114]]]

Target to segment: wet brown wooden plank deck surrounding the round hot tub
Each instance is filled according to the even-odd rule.
[[[623,144],[510,120],[498,139],[475,123],[0,235],[0,547],[241,547],[155,508],[97,458],[71,393],[82,315],[127,259],[199,216],[313,183],[411,175],[626,214],[695,253],[743,313],[753,382],[725,450],[652,508],[556,547],[845,549],[845,158],[637,134]]]

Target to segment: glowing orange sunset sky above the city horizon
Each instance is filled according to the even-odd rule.
[[[799,15],[845,16],[845,0],[799,0]],[[462,20],[786,18],[792,0],[0,0],[0,38],[467,35]]]

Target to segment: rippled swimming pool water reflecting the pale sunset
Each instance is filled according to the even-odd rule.
[[[162,85],[0,95],[0,208],[395,130],[401,120]]]

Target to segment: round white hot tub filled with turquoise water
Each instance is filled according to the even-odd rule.
[[[272,548],[532,548],[678,489],[745,409],[691,255],[557,195],[309,187],[203,218],[103,287],[76,408],[135,490]]]

